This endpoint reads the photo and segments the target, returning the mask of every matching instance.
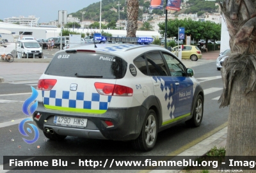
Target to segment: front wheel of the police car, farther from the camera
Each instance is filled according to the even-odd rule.
[[[202,123],[204,114],[204,100],[201,95],[196,97],[193,109],[193,117],[186,121],[186,124],[191,127],[198,127]]]

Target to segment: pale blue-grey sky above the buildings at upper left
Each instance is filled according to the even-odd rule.
[[[97,3],[100,0],[7,0],[1,3],[0,19],[10,17],[35,15],[40,17],[38,23],[48,23],[51,20],[58,20],[58,11],[67,10],[67,14]]]

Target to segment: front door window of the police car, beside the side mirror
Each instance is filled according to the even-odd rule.
[[[178,61],[174,56],[168,54],[167,52],[163,52],[163,56],[172,76],[182,77],[186,75],[184,66],[180,64],[180,61]]]

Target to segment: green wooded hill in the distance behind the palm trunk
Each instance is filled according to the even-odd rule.
[[[149,13],[148,8],[150,6],[150,1],[139,0],[140,6],[143,6],[142,9],[139,9],[139,19],[142,20],[143,13]],[[183,2],[184,0],[182,0]],[[120,3],[120,19],[127,19],[126,15],[126,4],[125,0],[102,0],[102,11],[101,11],[101,20],[106,22],[111,22],[112,20],[118,20],[118,2]],[[164,8],[166,0],[164,0]],[[215,6],[216,1],[205,1],[205,0],[189,0],[184,4],[184,9],[182,13],[199,13],[202,15],[205,12],[216,12],[218,7]],[[82,8],[76,13],[70,13],[73,17],[77,17],[82,20],[82,13],[80,11],[85,11],[84,20],[100,20],[100,2],[90,4],[89,6]],[[181,12],[181,11],[180,11]],[[177,11],[174,14],[180,13]],[[153,10],[152,13],[163,15],[163,10]]]

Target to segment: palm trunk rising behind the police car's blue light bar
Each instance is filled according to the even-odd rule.
[[[138,13],[139,13],[139,1],[127,0],[127,35],[126,37],[136,37],[136,31],[138,29]]]

